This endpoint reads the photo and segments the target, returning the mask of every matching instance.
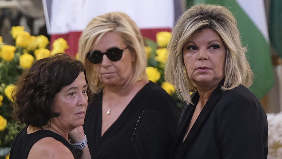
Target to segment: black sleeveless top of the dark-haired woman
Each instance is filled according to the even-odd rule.
[[[10,159],[26,159],[33,144],[45,137],[52,137],[60,141],[67,148],[69,148],[69,150],[71,150],[72,154],[74,154],[70,143],[61,135],[50,130],[39,130],[27,134],[27,127],[28,126],[23,127],[22,130],[20,130],[17,136],[14,138],[10,151]]]

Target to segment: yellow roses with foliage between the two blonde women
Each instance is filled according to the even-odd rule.
[[[177,106],[180,108],[182,102],[175,93],[173,85],[164,80],[164,65],[167,60],[167,44],[170,40],[170,32],[158,32],[156,34],[156,42],[145,39],[145,47],[148,59],[148,67],[146,74],[148,80],[160,85],[168,94],[172,95]]]

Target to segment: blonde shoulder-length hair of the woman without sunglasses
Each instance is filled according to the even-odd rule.
[[[188,77],[182,50],[189,37],[203,28],[217,32],[226,46],[225,81],[221,89],[231,90],[240,84],[249,87],[253,82],[253,73],[245,56],[246,48],[242,47],[233,14],[224,6],[197,4],[182,14],[172,29],[164,70],[165,79],[175,85],[177,94],[187,103],[191,103],[189,90],[195,91],[197,86]]]

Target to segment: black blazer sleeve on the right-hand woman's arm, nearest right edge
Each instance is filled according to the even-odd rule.
[[[222,108],[218,130],[223,158],[267,158],[267,119],[258,101],[231,98]]]

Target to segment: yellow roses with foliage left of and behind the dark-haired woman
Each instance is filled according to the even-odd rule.
[[[9,158],[9,147],[14,137],[24,125],[17,125],[11,117],[13,85],[22,72],[35,60],[49,57],[69,48],[63,38],[53,42],[53,50],[48,47],[49,40],[43,35],[31,36],[24,27],[12,27],[11,34],[15,45],[7,45],[0,36],[0,159]],[[5,157],[6,156],[6,157]]]

